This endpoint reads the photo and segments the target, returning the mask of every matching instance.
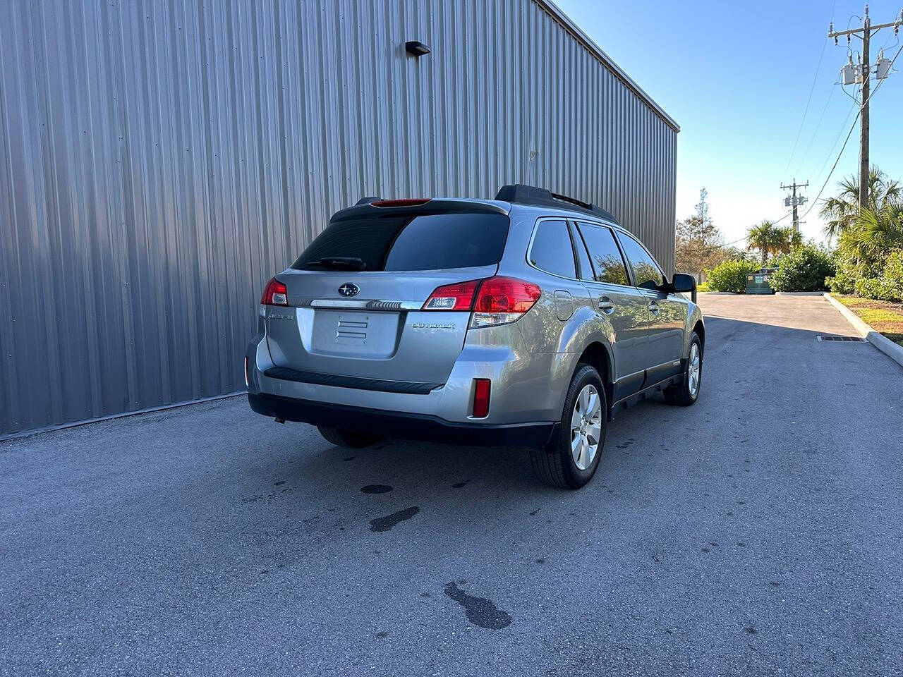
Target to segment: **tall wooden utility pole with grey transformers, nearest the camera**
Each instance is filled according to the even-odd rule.
[[[853,28],[848,31],[834,31],[833,23],[831,23],[830,27],[828,28],[828,37],[834,39],[834,44],[837,44],[837,38],[841,35],[847,36],[847,44],[850,43],[851,36],[853,35],[862,41],[861,64],[853,64],[851,55],[850,63],[841,69],[841,82],[844,85],[861,84],[862,86],[859,127],[860,209],[869,208],[869,96],[871,77],[869,42],[871,40],[872,34],[879,32],[882,28],[893,28],[894,33],[898,33],[901,18],[903,18],[903,12],[898,14],[896,20],[892,23],[879,23],[875,26],[872,26],[871,19],[869,17],[869,5],[865,5],[865,14],[863,14],[862,17],[861,28]],[[889,65],[885,67],[885,62],[889,62],[889,60],[884,59],[884,54],[882,51],[879,54],[878,62],[875,64],[876,79],[884,79],[888,77]]]

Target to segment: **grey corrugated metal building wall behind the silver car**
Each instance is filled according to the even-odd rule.
[[[672,269],[676,125],[554,12],[0,3],[0,435],[242,390],[265,280],[361,195],[545,185]]]

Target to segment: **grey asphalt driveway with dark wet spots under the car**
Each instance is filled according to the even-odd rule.
[[[242,398],[0,443],[0,673],[903,672],[903,369],[820,298],[701,303],[699,403],[579,492]]]

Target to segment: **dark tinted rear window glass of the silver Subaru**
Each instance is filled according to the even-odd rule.
[[[495,265],[507,238],[504,214],[375,214],[330,224],[292,265],[318,270],[331,256],[368,271],[442,270]],[[325,267],[325,266],[323,266]]]

